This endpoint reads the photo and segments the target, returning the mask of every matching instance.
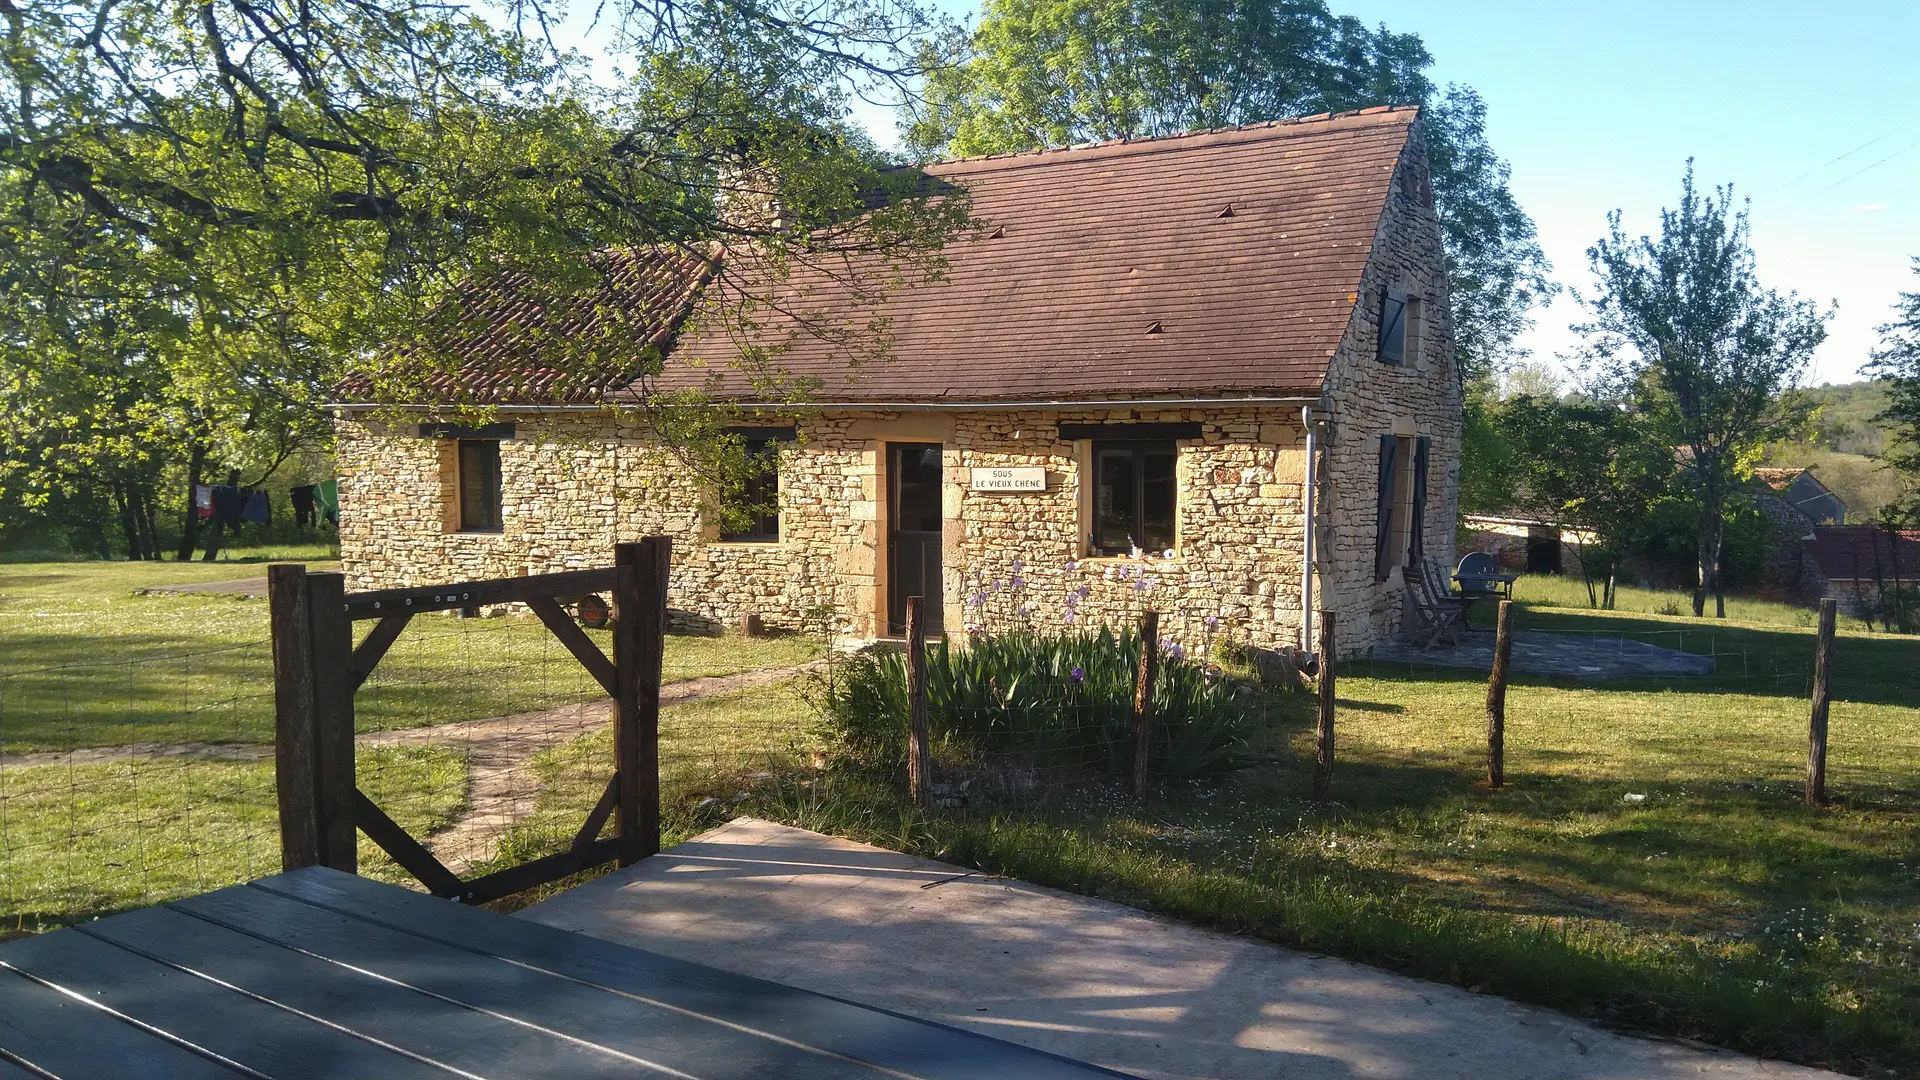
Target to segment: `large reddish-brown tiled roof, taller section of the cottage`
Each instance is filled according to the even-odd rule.
[[[979,238],[945,281],[856,307],[799,269],[781,307],[887,321],[883,361],[766,319],[816,400],[1085,400],[1317,394],[1354,311],[1417,110],[1380,108],[1167,138],[927,165],[964,184]],[[1231,213],[1227,213],[1231,208]],[[735,342],[689,332],[662,380],[726,375]],[[682,363],[693,361],[693,363]]]

